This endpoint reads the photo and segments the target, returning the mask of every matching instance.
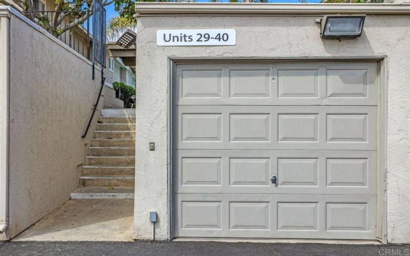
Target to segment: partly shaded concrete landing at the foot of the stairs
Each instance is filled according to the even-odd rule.
[[[133,241],[133,199],[75,199],[14,241]]]

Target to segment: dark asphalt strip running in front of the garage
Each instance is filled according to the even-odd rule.
[[[8,242],[0,255],[381,255],[408,256],[410,245],[222,242]]]

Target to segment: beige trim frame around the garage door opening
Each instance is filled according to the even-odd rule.
[[[304,62],[304,61],[325,61],[325,62],[377,62],[377,78],[379,79],[379,101],[378,101],[378,160],[377,160],[377,240],[387,243],[386,234],[386,126],[387,126],[387,57],[386,56],[358,56],[358,57],[338,57],[338,58],[169,58],[168,59],[168,238],[175,238],[175,209],[173,191],[173,166],[174,166],[174,129],[173,129],[173,104],[174,104],[174,84],[175,70],[178,64],[207,64],[207,63],[267,63],[267,62]],[[250,239],[252,240],[252,239]],[[269,240],[269,239],[268,239]]]

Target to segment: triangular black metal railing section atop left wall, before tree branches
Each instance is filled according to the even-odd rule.
[[[67,46],[93,61],[90,10],[22,12]]]

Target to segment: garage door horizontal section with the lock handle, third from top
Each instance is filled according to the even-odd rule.
[[[176,193],[376,195],[377,189],[376,151],[177,150],[175,159]]]

